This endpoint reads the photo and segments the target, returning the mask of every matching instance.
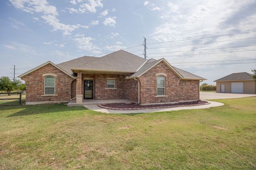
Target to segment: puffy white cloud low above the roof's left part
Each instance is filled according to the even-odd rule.
[[[76,46],[79,50],[91,51],[95,54],[101,53],[101,49],[93,44],[94,39],[92,37],[85,37],[84,34],[76,34],[73,41],[76,42]]]

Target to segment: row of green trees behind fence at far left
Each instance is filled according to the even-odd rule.
[[[0,78],[0,91],[5,91],[10,95],[12,91],[25,91],[26,85],[20,80],[11,81],[8,77]]]

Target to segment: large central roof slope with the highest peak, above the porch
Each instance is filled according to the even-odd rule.
[[[123,71],[136,72],[136,70],[146,61],[142,57],[138,57],[124,50],[108,54],[100,57],[87,64],[77,64],[73,68],[84,70],[107,70],[107,71]]]

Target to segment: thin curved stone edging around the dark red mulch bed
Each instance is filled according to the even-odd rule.
[[[204,100],[205,101],[205,100]],[[200,105],[209,105],[211,102],[206,101],[207,103],[203,104],[194,104],[194,105],[178,105],[178,106],[160,106],[160,107],[150,107],[150,108],[127,108],[127,109],[119,109],[119,108],[110,108],[102,106],[101,104],[97,104],[98,107],[103,109],[111,109],[111,110],[119,110],[119,111],[130,111],[130,110],[142,110],[142,109],[160,109],[160,108],[178,108],[178,107],[187,107],[187,106],[200,106]]]

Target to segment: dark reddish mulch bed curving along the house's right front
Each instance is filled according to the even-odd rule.
[[[112,110],[139,110],[139,109],[159,109],[159,108],[176,108],[185,106],[199,106],[208,105],[210,102],[207,101],[193,101],[193,102],[180,102],[173,104],[156,104],[156,105],[140,105],[137,103],[109,103],[109,104],[98,104],[98,107]]]

